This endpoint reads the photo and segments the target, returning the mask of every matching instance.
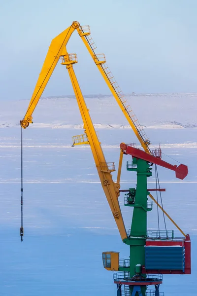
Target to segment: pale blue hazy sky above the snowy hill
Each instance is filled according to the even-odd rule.
[[[51,40],[89,25],[124,93],[197,92],[197,0],[0,0],[0,99],[31,99]],[[76,32],[84,94],[109,94]],[[73,94],[59,64],[43,96]]]

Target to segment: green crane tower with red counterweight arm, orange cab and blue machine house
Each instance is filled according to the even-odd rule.
[[[125,154],[132,155],[132,161],[127,161],[127,170],[137,175],[136,188],[123,190],[129,192],[125,194],[125,206],[133,207],[131,229],[128,237],[123,240],[130,246],[130,259],[119,259],[118,252],[103,252],[103,266],[107,270],[119,271],[113,276],[117,296],[164,296],[159,291],[163,274],[191,273],[190,236],[176,238],[173,230],[147,230],[147,212],[153,208],[152,201],[148,199],[150,192],[147,189],[147,178],[152,176],[151,166],[154,162],[165,167],[166,163],[159,158],[155,160],[154,156],[140,149],[124,144],[120,147],[124,148]],[[168,168],[174,170],[176,175],[178,171],[180,179],[184,174],[187,175],[187,167],[184,165],[181,171],[176,166]],[[147,290],[151,285],[155,290]]]

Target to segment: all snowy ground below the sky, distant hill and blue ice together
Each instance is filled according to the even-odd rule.
[[[119,160],[121,142],[137,143],[128,122],[110,96],[85,96],[106,161]],[[187,164],[184,180],[158,167],[166,212],[192,240],[192,274],[164,275],[165,296],[197,295],[197,94],[132,95],[128,100],[163,159]],[[24,241],[20,241],[20,126],[29,100],[1,101],[0,108],[0,296],[115,296],[113,272],[102,266],[103,251],[129,258],[121,241],[89,146],[72,148],[83,133],[74,97],[43,98],[24,137]],[[136,183],[126,170],[121,189]],[[177,161],[176,161],[177,160]],[[113,173],[114,181],[116,172]],[[148,180],[155,187],[155,174]],[[156,197],[156,194],[153,194]],[[126,228],[131,209],[119,197]],[[160,211],[161,228],[164,229]],[[157,207],[148,228],[157,229]],[[168,230],[175,227],[166,218]],[[180,233],[176,231],[176,235]],[[153,289],[153,288],[152,288]]]

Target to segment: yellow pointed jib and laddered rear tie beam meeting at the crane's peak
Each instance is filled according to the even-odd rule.
[[[102,77],[104,78],[105,82],[107,83],[110,91],[112,92],[114,98],[116,99],[119,107],[123,111],[125,117],[127,118],[129,124],[131,125],[132,130],[134,131],[136,137],[138,138],[141,146],[144,150],[151,154],[149,149],[149,145],[151,144],[150,140],[146,136],[146,133],[143,127],[139,124],[137,117],[135,116],[134,112],[131,109],[126,97],[124,96],[121,88],[119,87],[118,83],[116,82],[113,74],[111,73],[109,67],[106,64],[104,54],[96,54],[95,49],[96,45],[93,41],[93,38],[90,35],[90,27],[89,26],[80,26],[80,24],[76,21],[72,22],[72,25],[68,27],[65,31],[55,37],[50,46],[48,53],[46,55],[44,64],[42,66],[41,72],[39,74],[37,83],[35,85],[32,99],[28,106],[27,112],[20,121],[21,126],[26,128],[29,126],[30,123],[33,123],[32,114],[33,111],[53,73],[59,59],[61,56],[66,55],[66,45],[71,37],[72,33],[77,30],[79,36],[81,37],[82,41],[84,42],[88,52],[92,56],[95,64],[97,65],[99,72],[101,73]]]

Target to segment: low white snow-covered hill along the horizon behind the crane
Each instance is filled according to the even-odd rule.
[[[117,102],[110,95],[86,95],[95,127],[130,128]],[[128,94],[127,99],[144,128],[196,128],[197,93]],[[15,127],[30,100],[1,101],[0,127]],[[34,128],[76,128],[83,123],[74,96],[41,98],[33,113]]]

